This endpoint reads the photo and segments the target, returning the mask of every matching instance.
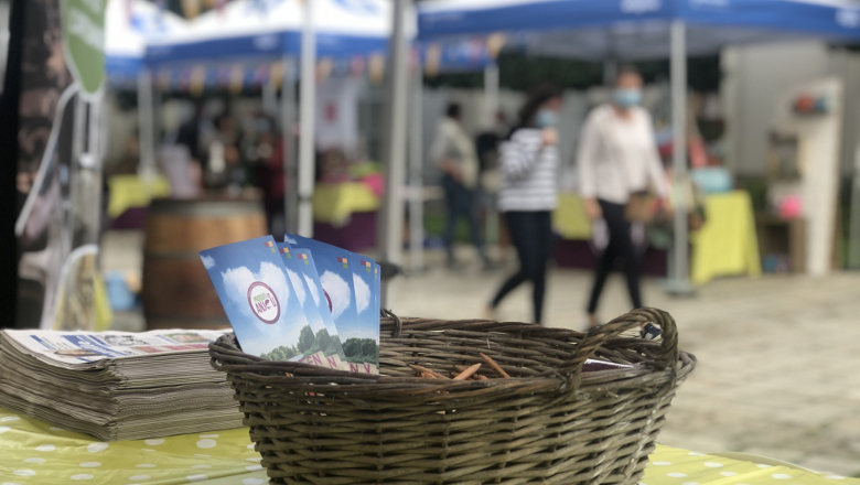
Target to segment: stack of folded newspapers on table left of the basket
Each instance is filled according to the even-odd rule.
[[[241,427],[218,331],[0,332],[0,407],[92,434],[142,440]]]

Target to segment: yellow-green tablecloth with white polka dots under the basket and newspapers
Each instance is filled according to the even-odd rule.
[[[0,485],[264,485],[247,428],[101,443],[0,408]],[[860,479],[658,446],[641,485],[860,485]]]

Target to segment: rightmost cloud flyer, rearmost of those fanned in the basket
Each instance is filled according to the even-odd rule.
[[[359,278],[356,272],[367,273],[362,261],[373,260],[325,242],[287,234],[284,240],[313,254],[325,294],[332,302],[332,317],[346,354],[350,370],[378,374],[379,368],[379,320],[373,323],[372,313],[375,285],[373,279]],[[362,268],[358,271],[359,267]],[[372,276],[373,272],[367,273]],[[361,281],[361,282],[359,282]],[[357,283],[357,289],[356,289]]]

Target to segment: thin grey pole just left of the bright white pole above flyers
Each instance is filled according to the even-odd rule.
[[[292,127],[295,122],[295,83],[292,58],[281,58],[281,144],[283,147],[283,218],[288,233],[298,233],[299,193],[295,170],[295,150],[292,144]]]

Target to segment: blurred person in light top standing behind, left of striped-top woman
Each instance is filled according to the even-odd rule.
[[[448,266],[453,268],[456,263],[454,230],[460,216],[465,216],[472,234],[472,244],[475,245],[484,266],[488,266],[490,260],[477,225],[476,187],[480,163],[472,139],[460,123],[460,105],[448,105],[445,117],[439,122],[436,139],[430,147],[430,159],[442,171],[442,188],[445,191],[448,206],[448,220],[442,238],[448,250]]]

